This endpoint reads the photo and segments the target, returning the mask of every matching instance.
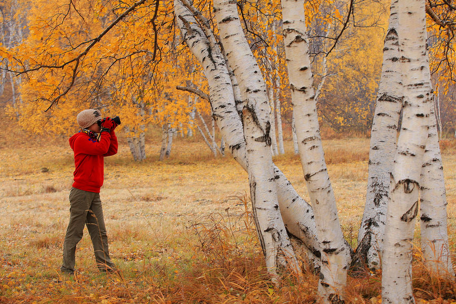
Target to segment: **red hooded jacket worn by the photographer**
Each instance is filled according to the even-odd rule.
[[[117,153],[116,133],[101,132],[100,141],[84,132],[74,134],[69,139],[74,151],[73,187],[90,192],[100,192],[104,179],[104,157]]]

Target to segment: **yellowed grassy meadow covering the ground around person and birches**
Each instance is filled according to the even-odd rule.
[[[1,138],[3,137],[3,138]],[[344,234],[353,246],[367,180],[367,138],[323,141]],[[456,251],[456,141],[442,141],[451,251]],[[230,157],[214,159],[198,138],[177,138],[158,161],[160,137],[147,138],[147,160],[132,160],[125,138],[105,160],[101,189],[109,250],[119,274],[97,271],[87,230],[77,274],[59,272],[69,219],[73,156],[67,139],[0,136],[0,303],[312,303],[318,277],[287,274],[274,286],[251,220],[247,174]],[[292,143],[275,158],[304,198]],[[419,233],[416,235],[419,236]],[[419,248],[419,240],[416,241]],[[453,256],[453,261],[456,261]],[[456,285],[429,275],[416,250],[418,302],[456,303]],[[349,278],[349,303],[381,301],[381,278]]]

